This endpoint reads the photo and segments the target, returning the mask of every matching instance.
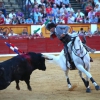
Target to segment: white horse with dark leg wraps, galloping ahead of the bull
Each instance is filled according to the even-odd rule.
[[[92,75],[90,74],[90,56],[89,53],[84,48],[79,36],[75,33],[73,33],[73,40],[68,44],[70,55],[72,57],[72,60],[76,66],[76,68],[79,70],[79,75],[81,79],[83,80],[85,86],[86,86],[86,92],[91,92],[90,86],[89,86],[89,80],[90,79],[95,86],[96,90],[99,90],[99,85],[95,82]],[[55,61],[57,64],[60,65],[62,70],[65,72],[67,84],[69,90],[72,89],[72,85],[70,83],[68,72],[69,68],[66,66],[66,58],[64,55],[64,50],[60,52],[58,56],[46,54],[47,57],[53,58],[53,61]],[[82,77],[82,73],[86,75],[86,80]],[[74,88],[74,87],[73,87]]]

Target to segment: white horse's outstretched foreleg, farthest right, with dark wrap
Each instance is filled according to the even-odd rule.
[[[100,89],[99,85],[98,85],[98,84],[96,83],[96,81],[93,79],[92,75],[91,75],[88,71],[86,71],[86,70],[83,68],[82,65],[77,65],[77,69],[80,70],[81,72],[83,72],[83,73],[91,80],[91,82],[92,82],[93,85],[95,86],[95,89],[96,89],[96,90],[99,90],[99,89]]]

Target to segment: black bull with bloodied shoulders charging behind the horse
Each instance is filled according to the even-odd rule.
[[[30,75],[35,69],[46,70],[45,59],[41,53],[28,52],[17,55],[0,63],[0,90],[6,89],[12,81],[16,82],[16,89],[20,90],[19,80],[25,81],[27,88],[30,86]],[[50,60],[50,59],[48,59]]]

